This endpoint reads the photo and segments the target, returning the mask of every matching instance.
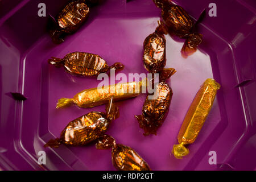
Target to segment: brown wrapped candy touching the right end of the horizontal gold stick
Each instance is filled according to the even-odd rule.
[[[160,82],[156,85],[154,96],[147,96],[142,108],[142,115],[135,115],[139,122],[139,127],[144,130],[144,136],[155,134],[169,110],[172,99],[172,89],[165,82],[169,77],[174,75],[174,68],[162,69],[160,72]]]

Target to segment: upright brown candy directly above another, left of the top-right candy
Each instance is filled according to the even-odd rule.
[[[157,73],[166,65],[166,38],[164,38],[164,34],[168,34],[168,32],[163,23],[158,23],[159,26],[155,32],[148,35],[143,43],[144,68],[150,73]]]

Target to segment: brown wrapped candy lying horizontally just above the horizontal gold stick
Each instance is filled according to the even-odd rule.
[[[98,76],[100,73],[106,73],[110,69],[123,69],[122,63],[114,63],[111,67],[106,61],[98,55],[86,52],[72,52],[63,59],[52,57],[48,60],[49,64],[55,67],[64,67],[65,71],[76,76]]]

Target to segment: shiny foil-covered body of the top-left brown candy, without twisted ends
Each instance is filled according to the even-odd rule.
[[[75,32],[89,16],[89,7],[84,1],[73,1],[57,16],[57,22],[61,31],[68,34]]]

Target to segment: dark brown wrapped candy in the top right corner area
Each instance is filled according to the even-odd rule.
[[[171,4],[168,0],[153,0],[155,5],[162,9],[163,22],[168,28],[170,35],[176,35],[179,38],[186,39],[181,49],[183,57],[192,55],[197,46],[202,42],[202,35],[195,32],[195,24],[203,19],[205,11],[200,15],[196,23],[183,7]]]

